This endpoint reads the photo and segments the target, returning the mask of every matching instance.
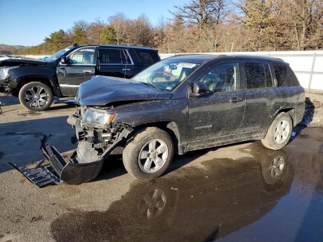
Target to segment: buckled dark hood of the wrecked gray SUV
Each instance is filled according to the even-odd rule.
[[[94,76],[80,85],[75,100],[80,105],[104,106],[119,101],[170,99],[172,95],[128,79]]]

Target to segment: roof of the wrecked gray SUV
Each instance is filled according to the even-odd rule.
[[[238,60],[255,60],[255,61],[270,61],[285,63],[281,58],[258,56],[258,55],[237,55],[237,54],[179,54],[169,57],[168,59],[188,61],[188,62],[209,62],[213,59],[221,58],[223,60],[227,58],[234,58]]]

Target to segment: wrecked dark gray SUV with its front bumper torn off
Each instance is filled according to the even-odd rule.
[[[130,80],[94,76],[75,99],[80,108],[67,120],[78,142],[73,155],[62,157],[45,137],[50,165],[11,164],[37,186],[89,181],[111,154],[151,180],[175,153],[247,140],[281,149],[305,107],[304,89],[281,59],[209,54],[170,57]]]

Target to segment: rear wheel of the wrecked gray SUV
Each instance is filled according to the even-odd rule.
[[[292,129],[293,123],[290,115],[281,112],[274,119],[261,143],[272,150],[282,149],[288,143]]]

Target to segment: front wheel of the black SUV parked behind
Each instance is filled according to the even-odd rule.
[[[44,111],[51,105],[53,93],[46,84],[29,82],[19,91],[19,101],[31,111]]]

